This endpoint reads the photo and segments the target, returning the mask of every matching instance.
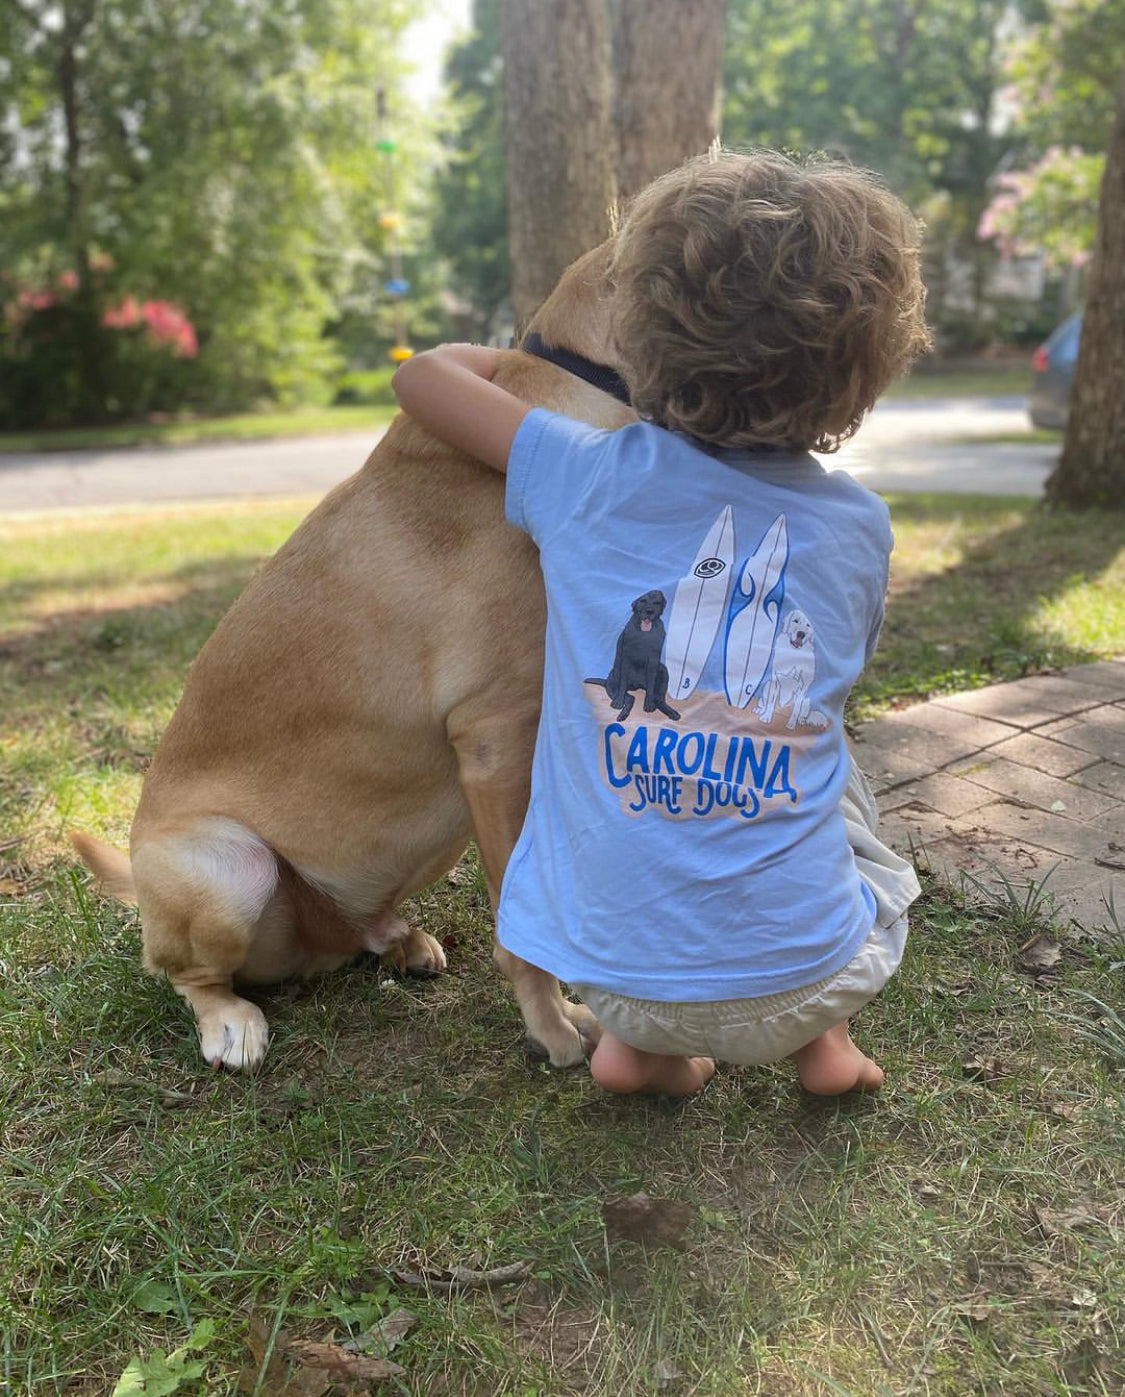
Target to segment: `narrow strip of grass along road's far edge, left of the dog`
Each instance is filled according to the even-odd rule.
[[[68,427],[0,433],[4,451],[85,451],[124,446],[189,446],[193,441],[259,441],[267,437],[327,436],[386,426],[393,407],[292,408],[285,412],[242,412],[225,418],[182,418],[172,422],[130,422],[110,427]]]

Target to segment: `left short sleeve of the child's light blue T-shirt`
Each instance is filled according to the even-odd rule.
[[[505,515],[542,546],[574,513],[608,454],[612,432],[532,408],[507,457]]]

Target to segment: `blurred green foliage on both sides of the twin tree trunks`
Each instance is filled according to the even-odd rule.
[[[506,278],[495,11],[477,0],[477,32],[450,63],[471,116],[451,138],[436,233],[485,323]],[[878,169],[929,204],[936,242],[978,256],[988,182],[1013,140],[998,98],[1015,29],[1010,0],[728,0],[723,138]]]

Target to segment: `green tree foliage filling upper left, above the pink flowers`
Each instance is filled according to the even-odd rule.
[[[124,295],[183,307],[210,405],[323,376],[324,324],[379,246],[373,87],[411,8],[0,0],[0,265],[8,296],[77,277],[75,411],[127,408],[101,324]]]

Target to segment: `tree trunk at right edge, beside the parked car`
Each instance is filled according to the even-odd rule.
[[[1047,499],[1125,509],[1125,80],[1101,180],[1066,437]]]

